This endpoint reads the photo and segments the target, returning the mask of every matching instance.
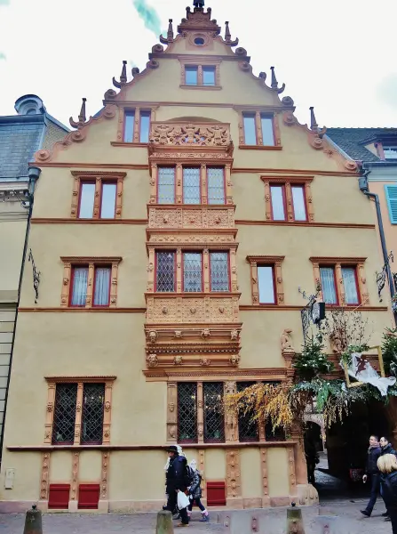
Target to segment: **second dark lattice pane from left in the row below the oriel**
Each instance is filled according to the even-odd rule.
[[[204,382],[204,441],[223,443],[225,441],[225,417],[223,406],[223,383]]]

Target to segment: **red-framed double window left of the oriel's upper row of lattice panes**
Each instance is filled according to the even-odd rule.
[[[115,218],[115,196],[117,185],[115,182],[102,182],[99,197],[99,218]],[[92,219],[94,213],[95,182],[82,182],[80,186],[80,201],[78,218]]]

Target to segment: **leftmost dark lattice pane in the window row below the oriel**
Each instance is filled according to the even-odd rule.
[[[178,384],[178,441],[197,442],[197,384]]]

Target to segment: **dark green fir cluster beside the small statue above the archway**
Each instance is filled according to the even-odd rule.
[[[295,356],[292,363],[297,370],[298,378],[312,380],[316,376],[330,373],[334,365],[324,352],[322,336],[312,336],[306,340],[302,352]]]

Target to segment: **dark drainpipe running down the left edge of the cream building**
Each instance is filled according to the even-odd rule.
[[[31,166],[28,169],[28,176],[29,176],[29,182],[28,182],[29,211],[28,211],[28,221],[27,221],[27,226],[26,226],[26,231],[25,231],[25,243],[23,245],[23,252],[22,252],[22,263],[20,265],[20,282],[19,282],[19,285],[18,285],[17,309],[16,309],[16,312],[15,312],[14,328],[13,328],[13,331],[12,331],[10,367],[8,369],[7,384],[5,386],[3,428],[2,428],[1,435],[0,435],[0,465],[1,465],[1,459],[2,459],[2,454],[3,454],[5,415],[7,413],[8,392],[10,390],[11,369],[12,369],[12,355],[13,355],[13,351],[14,351],[15,332],[16,332],[16,329],[17,329],[17,321],[18,321],[18,311],[20,309],[20,289],[22,287],[23,271],[25,269],[25,262],[26,262],[26,256],[27,256],[27,250],[28,250],[28,238],[29,238],[29,232],[30,232],[30,221],[31,221],[32,212],[33,212],[33,198],[34,198],[34,195],[35,195],[36,182],[37,182],[41,172],[42,172],[42,170],[39,167],[35,167],[35,166]]]

